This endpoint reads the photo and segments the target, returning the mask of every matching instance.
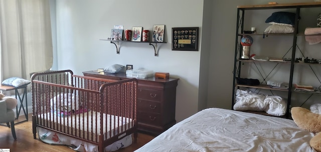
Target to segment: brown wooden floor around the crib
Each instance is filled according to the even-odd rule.
[[[23,116],[19,117],[18,121],[25,120]],[[6,124],[6,123],[5,123]],[[0,148],[10,148],[10,151],[50,151],[50,152],[62,152],[62,151],[74,151],[68,146],[64,145],[50,145],[42,142],[38,139],[34,139],[32,133],[32,118],[29,115],[29,121],[23,122],[15,125],[17,140],[14,140],[14,137],[11,133],[11,128],[7,126],[0,125]],[[148,141],[150,141],[154,136],[138,133],[137,143],[132,143],[126,148],[117,150],[117,152],[124,151],[134,151],[137,148],[141,147]]]

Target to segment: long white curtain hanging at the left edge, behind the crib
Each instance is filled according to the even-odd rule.
[[[49,70],[53,47],[49,0],[0,0],[0,81],[30,80]]]

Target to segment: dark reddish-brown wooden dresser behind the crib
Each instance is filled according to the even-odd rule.
[[[124,80],[126,73],[116,74],[83,72],[84,76]],[[154,77],[138,79],[137,121],[138,130],[158,135],[176,123],[176,87],[177,78],[155,79]]]

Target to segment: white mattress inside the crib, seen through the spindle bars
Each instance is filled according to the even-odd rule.
[[[128,129],[133,126],[133,120],[130,118],[114,116],[114,115],[103,113],[103,120],[106,120],[106,118],[108,123],[105,121],[103,122],[103,132],[104,132],[105,138],[110,137],[109,136],[110,131],[111,131],[111,136],[113,136],[114,131],[117,132],[118,129],[120,129],[120,132],[122,132],[126,128]],[[79,136],[85,139],[92,139],[92,141],[94,142],[99,142],[99,135],[100,135],[100,113],[99,112],[88,111],[88,112],[74,114],[74,115],[65,116],[65,117],[57,116],[54,112],[48,112],[44,114],[39,114],[38,120],[39,120],[38,123],[41,125],[45,125],[48,127],[51,126],[50,128],[54,128],[55,130],[68,129],[69,130],[68,134]],[[107,123],[107,127],[106,127],[106,123]],[[122,125],[118,127],[118,123]],[[109,125],[109,124],[112,124],[112,125]],[[91,130],[91,128],[96,128],[96,125],[97,125],[97,129]]]

